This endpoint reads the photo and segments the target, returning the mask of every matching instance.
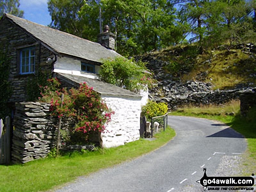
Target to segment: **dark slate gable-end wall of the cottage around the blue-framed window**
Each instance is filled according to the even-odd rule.
[[[0,22],[0,40],[1,45],[8,50],[10,58],[10,86],[13,94],[10,102],[27,101],[26,86],[37,75],[40,69],[43,73],[52,71],[51,62],[46,63],[48,58],[54,57],[54,54],[44,47],[36,39],[26,34],[25,30],[12,24],[9,20],[4,19]],[[35,74],[20,74],[19,57],[20,50],[26,47],[35,47]]]

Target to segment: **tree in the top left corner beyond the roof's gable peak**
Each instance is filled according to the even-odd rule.
[[[20,10],[19,7],[19,0],[0,0],[0,16],[2,16],[3,13],[9,13],[23,18],[24,11]]]

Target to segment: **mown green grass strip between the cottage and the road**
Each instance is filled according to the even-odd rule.
[[[24,165],[0,165],[0,192],[46,191],[151,152],[175,136],[172,128],[156,134],[154,141],[140,139],[116,148],[73,154],[55,159],[41,159]]]

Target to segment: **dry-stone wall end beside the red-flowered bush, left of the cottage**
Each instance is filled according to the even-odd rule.
[[[12,161],[29,162],[45,157],[54,144],[56,118],[49,115],[50,104],[16,103]]]

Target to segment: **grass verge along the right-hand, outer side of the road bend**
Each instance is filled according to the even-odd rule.
[[[217,120],[229,125],[245,136],[248,148],[243,154],[242,175],[255,174],[256,170],[256,108],[251,108],[247,117],[239,113],[239,101],[232,101],[225,106],[188,107],[172,112],[171,115],[184,115]]]

